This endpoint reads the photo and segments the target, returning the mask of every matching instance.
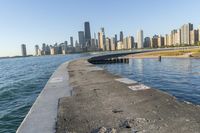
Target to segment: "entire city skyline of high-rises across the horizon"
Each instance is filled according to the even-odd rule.
[[[179,29],[174,29],[170,34],[154,35],[153,37],[145,37],[143,30],[139,30],[136,35],[136,39],[133,36],[124,37],[123,32],[117,34],[114,37],[107,37],[105,29],[101,28],[97,37],[94,33],[94,37],[91,37],[90,23],[84,23],[84,31],[78,32],[78,41],[74,41],[73,37],[70,37],[70,43],[65,41],[60,44],[47,45],[42,44],[41,49],[38,45],[35,46],[35,55],[56,55],[56,54],[68,54],[90,51],[115,51],[115,50],[129,50],[129,49],[141,49],[141,48],[162,48],[172,46],[189,46],[195,45],[200,42],[200,28],[193,29],[193,24],[184,24]],[[22,45],[22,55],[26,55],[26,46]]]

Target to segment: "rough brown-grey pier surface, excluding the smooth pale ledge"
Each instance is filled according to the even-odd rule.
[[[200,108],[155,89],[133,91],[86,60],[68,66],[71,97],[61,98],[57,133],[199,133]]]

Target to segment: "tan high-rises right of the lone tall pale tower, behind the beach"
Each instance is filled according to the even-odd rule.
[[[174,29],[170,34],[154,35],[151,39],[145,38],[144,44],[148,47],[170,47],[170,46],[191,46],[197,45],[200,42],[200,27],[194,29],[193,24],[188,23],[181,26],[179,29]]]

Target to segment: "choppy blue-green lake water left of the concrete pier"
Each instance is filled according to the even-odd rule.
[[[0,133],[14,133],[55,69],[87,55],[0,60]]]

